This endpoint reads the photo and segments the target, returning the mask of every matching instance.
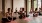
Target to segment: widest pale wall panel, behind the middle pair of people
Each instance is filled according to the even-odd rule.
[[[24,8],[24,0],[13,0],[13,12],[15,12],[15,8],[19,11],[21,7]]]

